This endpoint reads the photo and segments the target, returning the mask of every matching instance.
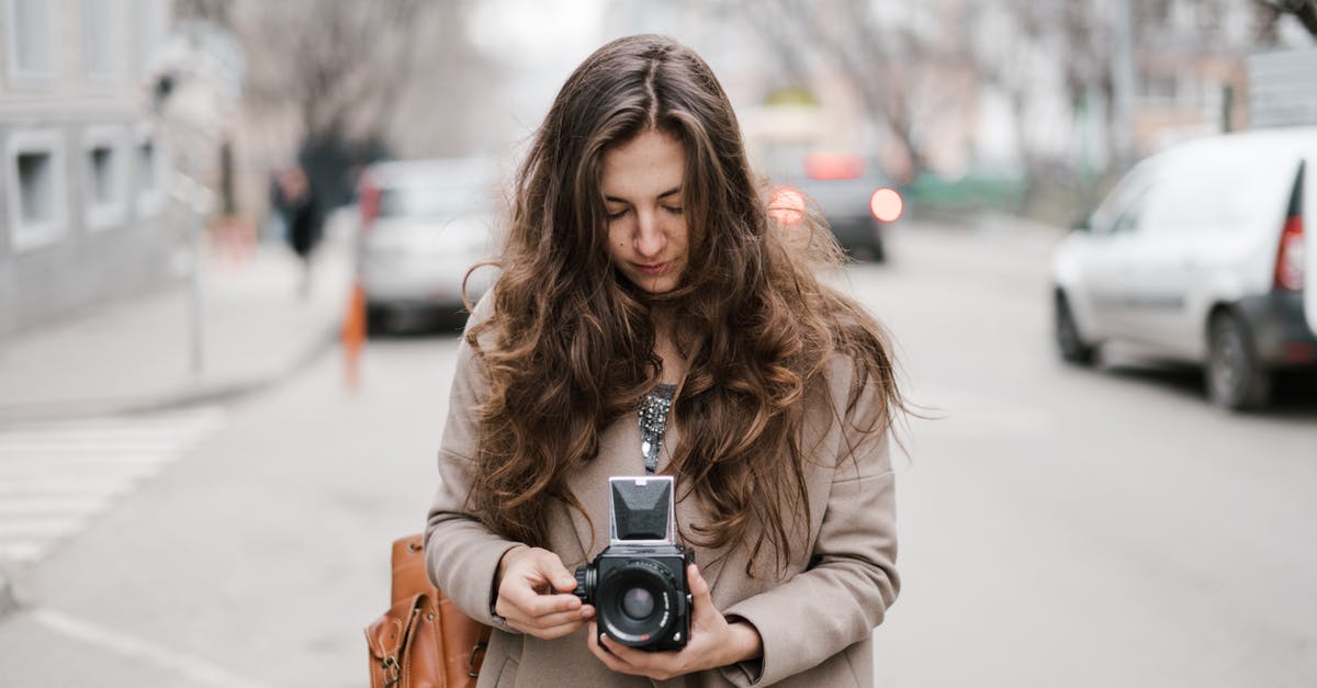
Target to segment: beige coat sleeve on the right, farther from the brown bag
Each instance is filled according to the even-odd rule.
[[[846,385],[842,389],[834,387],[834,399],[844,411]],[[751,663],[757,667],[722,670],[731,683],[770,685],[822,663],[868,638],[896,600],[896,476],[888,431],[872,428],[878,397],[872,385],[863,390],[831,434],[830,489],[810,567],[723,610],[752,623],[764,646],[761,660]]]

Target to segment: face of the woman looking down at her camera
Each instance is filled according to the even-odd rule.
[[[652,129],[603,154],[608,257],[651,294],[676,289],[686,269],[685,173],[681,142]]]

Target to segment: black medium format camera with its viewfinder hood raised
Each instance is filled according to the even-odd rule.
[[[673,478],[608,478],[608,547],[576,571],[576,594],[595,606],[599,641],[651,652],[686,647],[694,552],[677,544]]]

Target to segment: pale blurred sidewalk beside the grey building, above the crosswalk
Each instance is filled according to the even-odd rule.
[[[241,260],[203,250],[202,366],[192,369],[190,285],[84,312],[0,344],[0,428],[129,414],[257,390],[325,351],[350,289],[350,240],[328,235],[309,294],[282,244]]]

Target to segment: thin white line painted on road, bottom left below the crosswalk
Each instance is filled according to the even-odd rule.
[[[67,638],[175,671],[184,676],[188,684],[213,685],[216,688],[271,688],[269,684],[237,676],[203,659],[175,652],[144,638],[105,629],[63,612],[34,609],[32,617],[46,629]]]

